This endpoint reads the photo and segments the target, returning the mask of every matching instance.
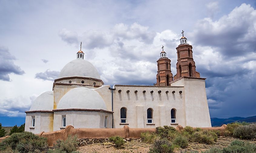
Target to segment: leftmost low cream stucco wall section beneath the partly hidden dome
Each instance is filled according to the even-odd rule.
[[[32,118],[35,118],[35,127],[32,127]],[[34,134],[53,131],[53,113],[27,113],[25,131]]]

